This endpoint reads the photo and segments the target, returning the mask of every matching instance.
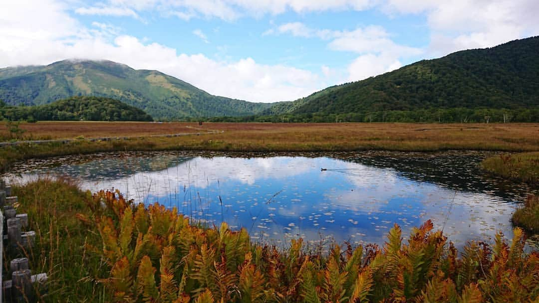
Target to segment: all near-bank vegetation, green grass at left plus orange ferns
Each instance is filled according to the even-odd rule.
[[[226,223],[202,228],[161,205],[118,192],[81,192],[70,180],[16,186],[37,232],[31,268],[49,275],[45,302],[528,302],[539,294],[539,253],[522,230],[508,244],[468,243],[460,257],[427,221],[403,243],[308,252],[250,242]]]

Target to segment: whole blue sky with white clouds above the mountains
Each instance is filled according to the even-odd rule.
[[[537,0],[0,0],[0,68],[104,59],[214,95],[291,101],[537,36],[537,16]]]

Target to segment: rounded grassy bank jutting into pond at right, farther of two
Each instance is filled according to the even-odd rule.
[[[509,180],[539,185],[539,152],[490,157],[483,160],[481,168]]]

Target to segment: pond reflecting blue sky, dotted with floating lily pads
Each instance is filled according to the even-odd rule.
[[[493,154],[102,153],[25,161],[6,177],[67,175],[93,192],[119,189],[196,221],[244,227],[255,242],[383,244],[394,223],[407,236],[431,219],[461,246],[500,230],[511,236],[515,203],[532,192],[481,174],[477,164]]]

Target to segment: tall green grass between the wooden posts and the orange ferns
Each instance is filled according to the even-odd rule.
[[[49,277],[46,287],[36,290],[38,300],[107,302],[103,286],[95,280],[106,273],[106,267],[86,249],[100,243],[100,237],[96,229],[77,219],[77,214],[88,213],[85,199],[90,194],[80,191],[73,180],[50,178],[15,185],[13,194],[19,198],[17,213],[27,213],[29,229],[36,231],[36,245],[23,255],[33,273],[45,272]]]

